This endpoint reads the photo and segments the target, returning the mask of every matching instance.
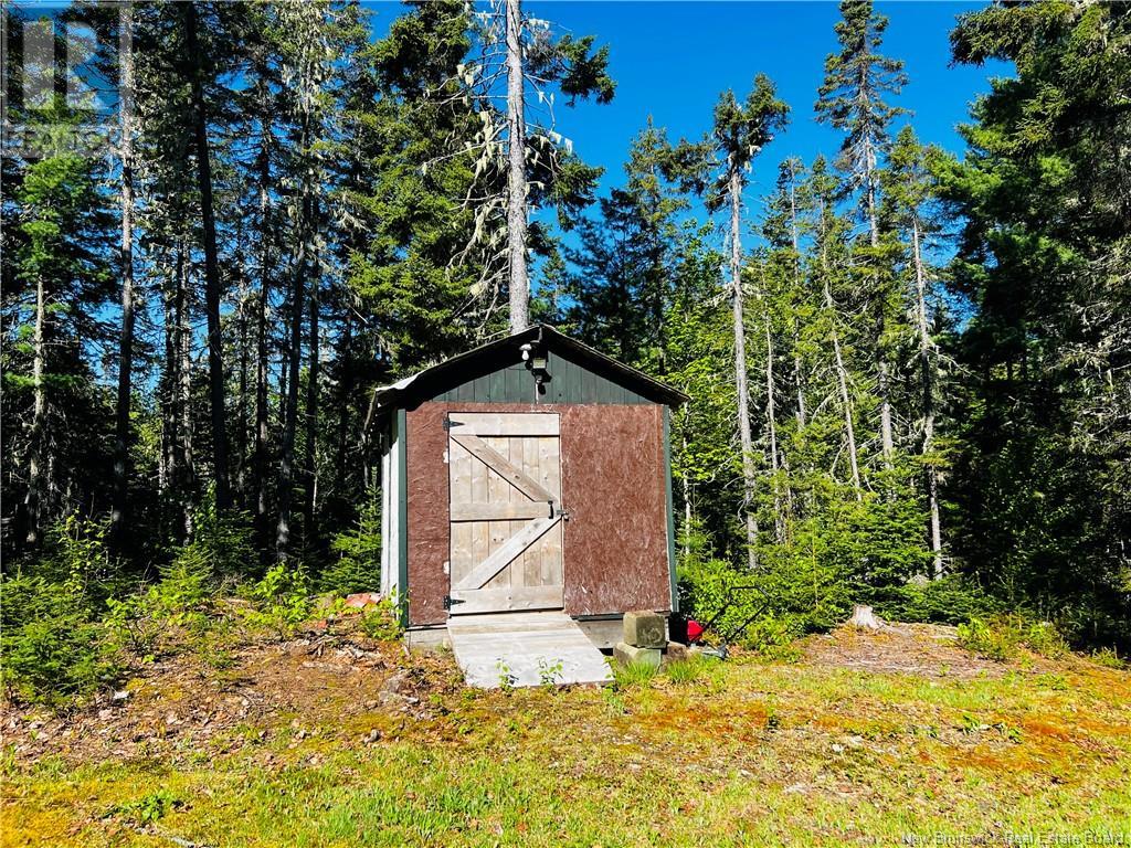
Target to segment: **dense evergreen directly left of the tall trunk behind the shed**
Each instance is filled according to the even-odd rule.
[[[468,250],[481,220],[468,201],[476,155],[467,145],[482,129],[458,72],[469,26],[461,3],[412,5],[361,53],[346,101],[343,246],[362,318],[354,343],[398,372],[495,329],[474,309],[484,258]],[[502,233],[484,237],[497,250]]]

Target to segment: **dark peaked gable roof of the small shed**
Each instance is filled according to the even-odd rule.
[[[535,325],[521,332],[452,356],[390,386],[379,387],[373,392],[371,414],[429,400],[467,382],[476,374],[510,367],[521,360],[520,346],[527,343],[538,343],[550,353],[560,354],[649,401],[679,406],[688,400],[682,391],[654,380],[642,371],[618,362],[552,327]]]

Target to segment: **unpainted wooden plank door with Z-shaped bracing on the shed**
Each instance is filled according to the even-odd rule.
[[[562,606],[556,413],[450,413],[451,613]]]

